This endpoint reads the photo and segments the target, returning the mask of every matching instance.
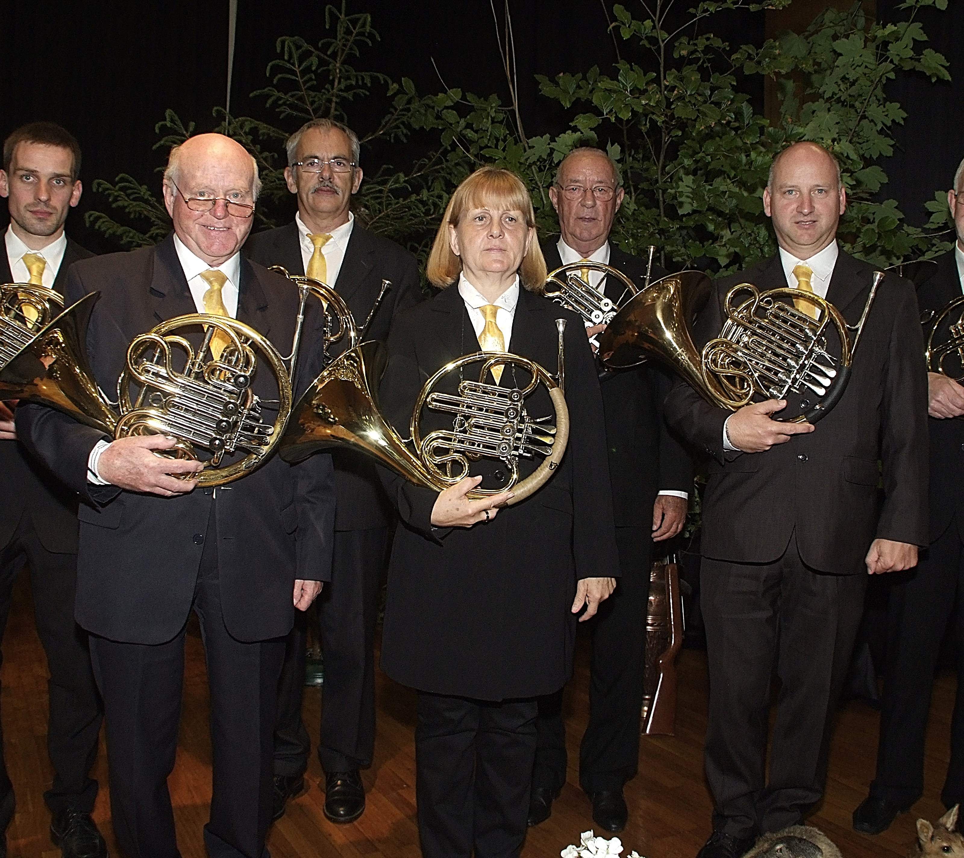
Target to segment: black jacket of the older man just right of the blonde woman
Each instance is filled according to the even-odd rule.
[[[562,264],[556,242],[546,244],[543,254],[549,271]],[[610,245],[609,264],[642,288],[646,280],[642,259]],[[654,266],[653,280],[665,275]],[[603,288],[606,297],[616,302],[624,286],[607,278]],[[601,387],[616,526],[649,531],[657,492],[693,489],[689,456],[663,420],[662,403],[672,387],[672,376],[656,362],[648,362],[637,369],[605,373]]]

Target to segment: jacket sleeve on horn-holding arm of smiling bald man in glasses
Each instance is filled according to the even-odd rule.
[[[67,273],[65,298],[67,306],[79,301],[88,292],[75,266]],[[94,347],[96,335],[94,316],[88,328],[88,352]],[[87,462],[94,445],[101,440],[111,441],[97,429],[43,405],[26,404],[16,410],[17,437],[35,456],[40,458],[67,488],[95,506],[101,506],[120,495],[117,486],[94,486],[87,481]]]

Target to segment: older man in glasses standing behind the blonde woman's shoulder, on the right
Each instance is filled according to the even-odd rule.
[[[559,165],[549,197],[561,236],[543,248],[549,271],[579,260],[602,262],[642,288],[646,263],[609,244],[623,201],[619,169],[596,148],[578,148]],[[651,272],[665,274],[661,269]],[[583,275],[618,304],[624,285],[602,272]],[[588,329],[598,334],[603,326]],[[646,609],[653,543],[676,536],[692,483],[689,459],[662,419],[670,377],[654,363],[603,378],[603,413],[622,576],[593,620],[589,723],[579,753],[579,784],[593,802],[593,819],[621,831],[628,810],[623,786],[636,774],[646,660]],[[540,701],[539,745],[529,801],[530,825],[549,818],[566,782],[566,730],[561,691]]]

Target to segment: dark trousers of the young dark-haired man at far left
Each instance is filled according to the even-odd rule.
[[[7,628],[13,582],[24,561],[30,567],[37,632],[50,673],[47,752],[54,782],[43,799],[55,814],[67,807],[90,813],[97,797],[97,782],[88,775],[97,755],[103,714],[87,634],[73,619],[77,555],[44,549],[30,516],[24,512],[12,540],[0,550],[0,636]],[[13,819],[13,804],[13,785],[0,752],[0,832]]]

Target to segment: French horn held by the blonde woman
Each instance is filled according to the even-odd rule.
[[[565,320],[556,324],[559,376],[563,376]],[[385,363],[381,343],[364,342],[326,367],[294,408],[281,441],[281,458],[298,462],[317,450],[346,446],[371,456],[415,485],[437,492],[468,475],[471,461],[498,459],[508,469],[508,480],[495,489],[479,487],[469,497],[512,489],[510,504],[539,489],[562,461],[569,441],[569,410],[562,387],[538,363],[494,352],[476,352],[446,363],[418,393],[409,426],[410,440],[401,438],[379,409],[378,382]],[[479,364],[477,380],[462,378],[472,364]],[[519,368],[530,381],[521,388],[490,384],[486,379],[497,366]],[[434,389],[442,378],[456,371],[460,375],[456,394]],[[525,411],[525,397],[540,384],[549,392],[554,425]],[[423,435],[420,423],[426,408],[452,414],[452,429]],[[519,460],[536,455],[546,458],[519,481]]]

